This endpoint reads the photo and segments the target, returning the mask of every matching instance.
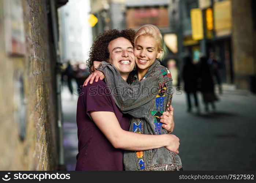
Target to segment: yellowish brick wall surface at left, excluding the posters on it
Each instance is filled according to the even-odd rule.
[[[0,1],[0,170],[57,169],[55,60],[51,59],[46,2],[22,0],[26,54],[14,57],[5,53],[4,3]],[[14,117],[17,73],[24,81],[24,140]]]

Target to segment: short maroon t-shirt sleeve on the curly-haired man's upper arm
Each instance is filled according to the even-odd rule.
[[[82,98],[86,113],[91,119],[90,111],[114,112],[110,90],[103,81],[93,82],[93,84],[85,86],[82,94],[84,95]]]

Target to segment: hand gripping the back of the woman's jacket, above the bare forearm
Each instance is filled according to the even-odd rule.
[[[173,108],[170,105],[168,107],[169,112],[163,112],[163,115],[160,116],[160,122],[163,123],[162,127],[168,131],[168,133],[172,133],[174,129],[174,120],[173,120]]]

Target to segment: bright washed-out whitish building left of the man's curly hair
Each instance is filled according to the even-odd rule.
[[[81,62],[88,59],[92,28],[88,23],[90,0],[69,0],[59,8],[60,59]]]

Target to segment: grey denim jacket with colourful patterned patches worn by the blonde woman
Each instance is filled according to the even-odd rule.
[[[131,85],[123,80],[119,71],[110,63],[103,61],[97,70],[104,72],[105,81],[118,108],[133,116],[129,131],[151,135],[167,134],[160,123],[160,116],[167,111],[172,100],[172,77],[166,67],[155,61],[144,78],[138,81],[135,76]],[[130,171],[171,171],[182,167],[178,154],[166,147],[140,152],[126,151],[124,164],[125,170]]]

